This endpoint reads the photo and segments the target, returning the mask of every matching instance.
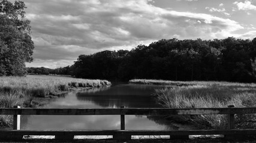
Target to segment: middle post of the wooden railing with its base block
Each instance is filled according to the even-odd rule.
[[[121,106],[121,130],[125,130],[125,114],[122,114],[122,108],[125,108],[125,106]],[[127,139],[131,139],[131,135],[127,135],[127,133],[115,133],[115,135],[113,135],[113,139],[118,139],[118,140],[127,140]]]

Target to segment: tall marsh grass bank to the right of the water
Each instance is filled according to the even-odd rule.
[[[135,79],[130,83],[171,85],[156,89],[156,100],[167,108],[255,107],[255,83],[231,82],[173,82]],[[170,120],[190,123],[201,129],[227,129],[225,115],[175,116]],[[236,129],[256,128],[255,114],[235,116]]]

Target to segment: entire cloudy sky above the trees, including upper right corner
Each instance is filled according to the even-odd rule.
[[[10,0],[14,2],[14,0]],[[256,37],[256,0],[23,0],[35,49],[27,67],[161,39]]]

